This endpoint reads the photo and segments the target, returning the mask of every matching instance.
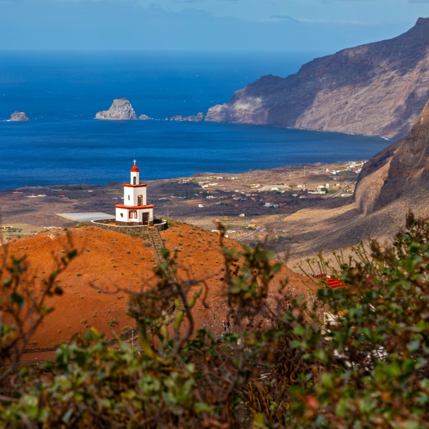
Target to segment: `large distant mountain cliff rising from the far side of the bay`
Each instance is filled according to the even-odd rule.
[[[208,110],[207,121],[406,136],[429,98],[429,18],[395,39],[264,76]]]

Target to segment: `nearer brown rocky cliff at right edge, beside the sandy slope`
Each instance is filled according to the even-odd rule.
[[[406,139],[365,163],[354,198],[365,214],[429,187],[429,101]]]

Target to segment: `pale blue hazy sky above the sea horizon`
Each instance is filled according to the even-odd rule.
[[[0,0],[0,50],[330,53],[419,17],[429,0]]]

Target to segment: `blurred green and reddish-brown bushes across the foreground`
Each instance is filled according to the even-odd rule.
[[[337,256],[339,272],[320,260],[345,288],[314,280],[309,299],[276,283],[276,307],[267,305],[280,269],[273,255],[224,248],[233,333],[221,338],[194,332],[204,286],[191,293],[195,281],[170,281],[167,251],[158,284],[129,297],[141,351],[124,342],[112,350],[90,330],[61,345],[55,364],[14,366],[11,378],[6,360],[23,338],[18,344],[18,327],[2,325],[0,420],[26,428],[429,427],[429,225],[410,214],[392,248],[369,248]],[[3,311],[27,300],[8,293],[14,264],[1,269]],[[246,332],[250,319],[265,328]]]

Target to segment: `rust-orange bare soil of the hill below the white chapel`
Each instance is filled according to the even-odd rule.
[[[193,311],[196,327],[207,326],[219,335],[226,330],[226,307],[221,296],[223,257],[218,234],[177,222],[167,231],[161,231],[161,236],[166,248],[177,250],[179,282],[189,276],[206,286],[207,307],[198,301]],[[241,248],[239,243],[228,239],[225,244],[229,248]],[[126,314],[127,293],[115,290],[140,290],[142,286],[155,284],[155,255],[147,241],[96,226],[21,238],[10,243],[7,252],[15,257],[27,256],[24,284],[37,291],[41,288],[41,279],[48,278],[56,267],[54,258],[63,257],[70,248],[76,248],[78,256],[56,281],[63,295],[47,300],[54,311],[46,316],[32,338],[37,347],[55,347],[89,326],[108,338],[113,337],[113,328],[121,333],[127,326],[136,326],[134,319]],[[5,250],[5,246],[0,248],[0,255]],[[288,287],[293,293],[305,293],[304,278],[283,267],[272,283],[273,295],[285,276],[289,277]],[[191,292],[196,288],[198,286],[193,286]],[[113,320],[117,323],[114,327],[110,326]]]

